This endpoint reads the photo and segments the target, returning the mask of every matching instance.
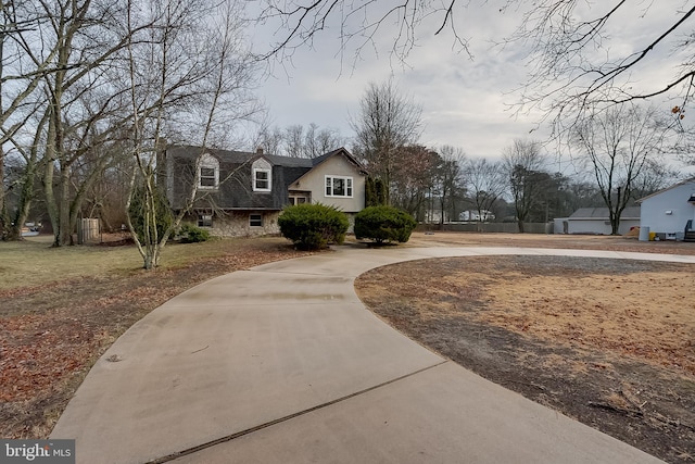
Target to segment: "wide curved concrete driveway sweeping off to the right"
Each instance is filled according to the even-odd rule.
[[[169,300],[94,364],[51,438],[78,463],[648,463],[658,460],[464,369],[364,308],[359,274],[486,254],[695,263],[514,248],[338,248]]]

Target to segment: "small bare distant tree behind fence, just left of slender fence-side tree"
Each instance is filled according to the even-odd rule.
[[[502,163],[484,158],[469,160],[464,167],[464,179],[478,217],[485,217],[507,189],[507,178]]]

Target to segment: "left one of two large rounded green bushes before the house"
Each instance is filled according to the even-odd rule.
[[[342,243],[350,223],[344,213],[325,204],[287,206],[278,226],[282,236],[303,249],[316,250],[328,243]]]

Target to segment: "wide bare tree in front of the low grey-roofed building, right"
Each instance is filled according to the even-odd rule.
[[[608,208],[610,230],[618,234],[620,215],[633,200],[639,179],[662,158],[667,126],[655,109],[635,104],[614,106],[578,125],[572,141],[593,172]]]

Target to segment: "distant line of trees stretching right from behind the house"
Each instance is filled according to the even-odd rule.
[[[606,206],[617,234],[624,208],[675,176],[664,167],[667,123],[633,103],[574,126],[567,150],[584,174],[572,176],[549,168],[536,140],[513,140],[498,161],[419,145],[421,106],[390,80],[369,85],[359,108],[353,151],[371,176],[367,204],[391,204],[420,222],[459,221],[471,211],[483,221],[515,222],[523,233],[525,223]]]

